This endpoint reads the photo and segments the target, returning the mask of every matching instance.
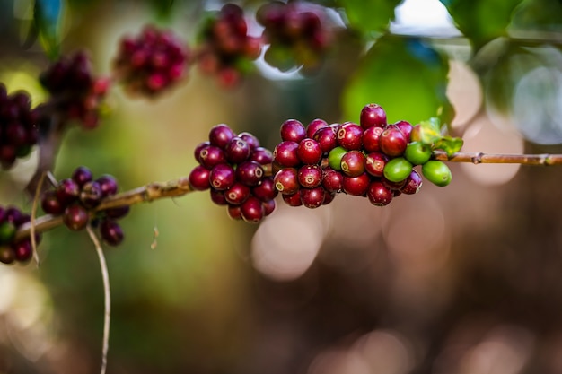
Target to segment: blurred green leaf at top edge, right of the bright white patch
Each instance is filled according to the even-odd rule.
[[[461,32],[479,50],[505,35],[514,9],[522,0],[440,0]]]

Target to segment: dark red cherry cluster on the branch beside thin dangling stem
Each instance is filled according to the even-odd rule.
[[[84,166],[76,168],[71,178],[62,179],[41,196],[43,212],[62,215],[70,230],[83,230],[92,224],[100,230],[101,239],[111,246],[123,241],[123,230],[117,220],[127,215],[128,206],[105,209],[94,213],[94,209],[107,196],[118,191],[117,180],[109,174],[94,179],[92,171]]]

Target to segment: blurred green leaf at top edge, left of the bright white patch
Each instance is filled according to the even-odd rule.
[[[402,0],[339,0],[349,25],[365,34],[385,32],[394,20],[394,9]]]

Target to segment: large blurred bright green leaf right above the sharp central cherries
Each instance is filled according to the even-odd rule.
[[[416,124],[439,117],[449,124],[452,105],[446,97],[449,64],[419,39],[386,35],[367,52],[343,94],[344,115],[358,120],[364,105],[377,103],[389,122]]]

